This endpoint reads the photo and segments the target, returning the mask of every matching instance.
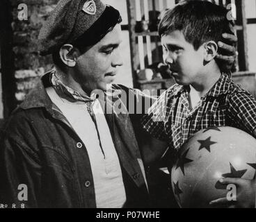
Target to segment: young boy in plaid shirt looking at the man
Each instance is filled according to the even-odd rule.
[[[159,24],[163,58],[177,84],[163,93],[143,117],[154,139],[152,153],[166,145],[175,151],[199,130],[232,126],[256,137],[256,101],[235,85],[216,59],[222,33],[232,30],[227,10],[208,1],[187,1],[166,11]],[[255,182],[221,180],[238,185],[238,207],[254,207]],[[226,198],[211,204],[228,203]],[[234,204],[234,203],[232,203]]]

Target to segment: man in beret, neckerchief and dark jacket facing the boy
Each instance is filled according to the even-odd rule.
[[[140,115],[128,114],[120,98],[150,99],[111,84],[122,65],[121,20],[99,0],[58,2],[39,36],[40,53],[52,54],[55,69],[3,128],[0,203],[150,207],[135,127]]]

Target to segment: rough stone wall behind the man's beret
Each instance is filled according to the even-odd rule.
[[[38,34],[58,0],[12,0],[11,2],[15,98],[19,102],[35,86],[38,78],[52,67],[51,56],[42,57],[38,53]],[[18,14],[26,9],[19,8],[22,3],[27,7],[27,20],[20,20],[18,17]]]

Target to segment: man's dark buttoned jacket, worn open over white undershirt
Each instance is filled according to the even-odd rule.
[[[16,207],[21,203],[25,207],[96,207],[86,147],[49,99],[45,91],[47,86],[48,74],[3,127],[0,204],[8,207],[13,203]],[[125,92],[130,90],[120,85],[115,87]],[[125,207],[149,207],[143,164],[129,114],[106,114],[106,120],[120,159],[127,193]],[[21,184],[28,187],[28,200],[19,200],[21,190],[18,186]]]

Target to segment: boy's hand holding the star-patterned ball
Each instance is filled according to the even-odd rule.
[[[241,178],[223,178],[219,180],[223,185],[233,184],[237,186],[237,200],[230,201],[227,197],[213,200],[209,204],[216,207],[255,207],[255,180],[245,180]]]

